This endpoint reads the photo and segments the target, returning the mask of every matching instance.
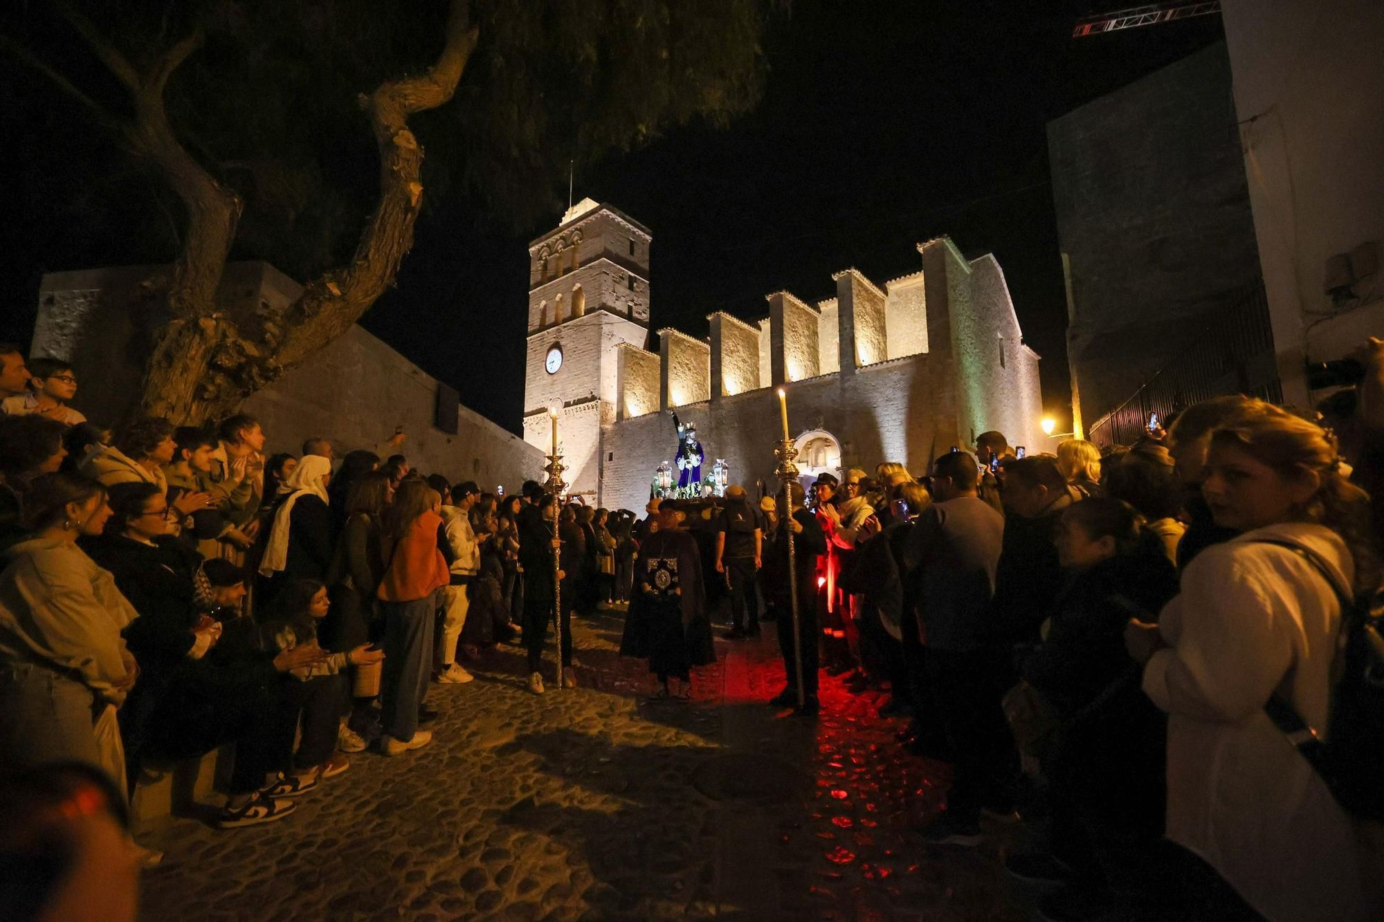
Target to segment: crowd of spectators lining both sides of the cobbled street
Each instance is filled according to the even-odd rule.
[[[115,813],[145,766],[234,743],[217,824],[286,817],[350,753],[428,745],[429,684],[494,644],[544,694],[555,622],[574,687],[572,616],[623,609],[682,519],[424,476],[403,435],[338,461],[266,458],[244,414],[109,432],[64,363],[0,361],[0,768],[86,766],[60,797],[94,767]],[[1380,587],[1384,343],[1362,364],[1322,413],[1228,396],[1133,446],[987,432],[916,476],[731,486],[698,526],[707,595],[731,641],[776,622],[772,703],[815,714],[821,670],[889,692],[900,743],[952,766],[923,842],[1030,824],[1006,867],[1056,887],[1046,919],[1378,918],[1377,817],[1300,749]]]

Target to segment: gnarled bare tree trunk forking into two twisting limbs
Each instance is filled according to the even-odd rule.
[[[408,116],[443,105],[455,93],[477,40],[466,0],[453,0],[446,44],[426,73],[388,80],[360,97],[379,150],[379,204],[350,264],[310,281],[292,305],[262,307],[252,317],[230,317],[216,307],[241,201],[187,152],[163,108],[167,79],[201,46],[201,30],[140,73],[82,14],[68,6],[60,10],[130,94],[134,120],[120,125],[123,141],[187,209],[183,252],[166,278],[147,282],[163,293],[167,318],[154,332],[140,406],[176,424],[234,413],[285,368],[350,329],[393,284],[412,246],[424,194],[424,151],[408,130]]]

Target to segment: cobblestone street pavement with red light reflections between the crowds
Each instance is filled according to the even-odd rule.
[[[430,746],[352,756],[282,822],[172,821],[147,839],[167,857],[144,918],[1027,918],[998,862],[1012,832],[980,850],[909,832],[947,767],[902,753],[876,696],[825,680],[815,721],[767,706],[770,624],[718,640],[691,702],[649,702],[620,626],[577,620],[574,691],[530,695],[512,648],[433,685]]]

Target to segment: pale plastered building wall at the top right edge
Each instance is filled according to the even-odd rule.
[[[1305,361],[1384,329],[1384,273],[1324,291],[1327,259],[1384,244],[1384,4],[1222,6],[1283,397],[1308,404]]]

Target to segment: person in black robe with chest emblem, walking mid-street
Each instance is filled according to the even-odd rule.
[[[659,677],[657,698],[673,696],[674,678],[684,684],[680,696],[688,698],[692,667],[716,662],[702,554],[696,539],[678,527],[684,518],[677,501],[659,505],[659,530],[635,561],[634,598],[620,640],[621,655],[649,660],[649,671]]]

